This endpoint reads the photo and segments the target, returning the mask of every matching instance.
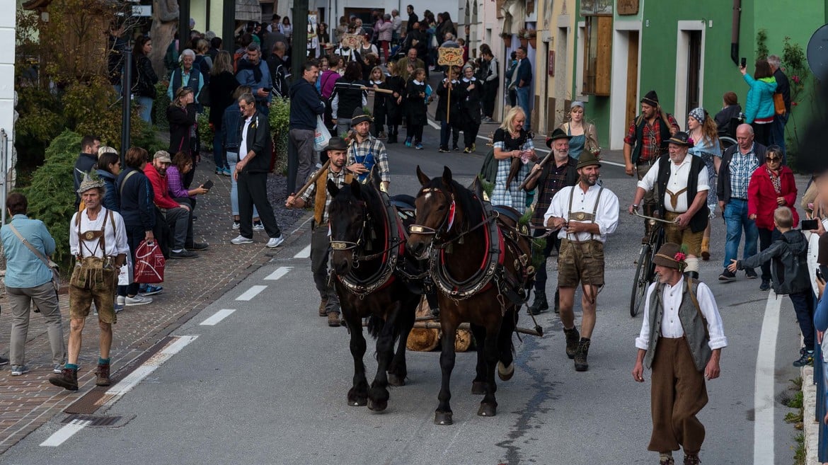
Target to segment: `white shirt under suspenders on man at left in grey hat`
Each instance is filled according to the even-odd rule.
[[[80,232],[100,231],[103,228],[103,220],[106,219],[106,229],[103,230],[103,237],[106,240],[106,253],[98,246],[98,237],[91,241],[84,239],[84,245],[81,245],[78,237],[78,227],[75,226],[78,215],[80,217]],[[78,256],[117,256],[119,254],[126,254],[129,256],[129,244],[127,242],[127,228],[123,226],[123,218],[118,212],[112,212],[112,220],[115,222],[113,230],[112,223],[109,220],[109,213],[107,209],[101,207],[98,212],[98,218],[94,221],[89,219],[89,213],[86,209],[82,212],[76,212],[72,215],[72,220],[69,223],[69,248],[72,255]]]

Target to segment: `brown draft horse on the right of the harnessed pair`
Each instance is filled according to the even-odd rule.
[[[448,167],[433,180],[419,166],[416,173],[422,189],[407,247],[417,258],[430,257],[431,279],[440,290],[442,383],[434,422],[452,423],[455,330],[463,322],[470,324],[478,348],[472,393],[484,398],[477,415],[493,416],[495,366],[503,381],[514,373],[512,333],[532,286],[531,243],[517,232],[517,218],[493,213],[479,185],[474,194],[451,179]]]

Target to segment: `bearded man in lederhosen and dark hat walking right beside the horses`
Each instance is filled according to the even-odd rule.
[[[585,372],[590,339],[595,328],[595,306],[604,285],[604,242],[619,223],[619,199],[598,185],[601,164],[594,155],[582,154],[578,161],[578,184],[555,194],[543,223],[561,228],[558,252],[558,289],[561,295],[561,323],[566,334],[566,356],[575,359],[575,370]],[[580,333],[572,311],[575,286],[583,289],[583,317]]]

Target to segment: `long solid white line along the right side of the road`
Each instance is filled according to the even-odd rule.
[[[776,367],[776,343],[779,330],[779,307],[782,300],[771,290],[765,316],[762,320],[762,333],[759,336],[759,349],[756,355],[756,379],[753,383],[753,464],[773,465],[773,408],[775,400],[774,372]]]

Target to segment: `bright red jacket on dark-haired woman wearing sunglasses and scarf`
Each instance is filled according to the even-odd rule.
[[[756,227],[773,229],[773,210],[777,207],[788,207],[793,212],[793,227],[799,223],[799,215],[794,202],[797,201],[797,181],[793,179],[793,171],[787,166],[779,169],[779,178],[782,180],[782,194],[777,195],[773,189],[771,176],[768,175],[766,165],[759,166],[753,175],[750,175],[748,184],[748,215],[756,215]],[[777,197],[784,197],[785,204],[777,204]]]

